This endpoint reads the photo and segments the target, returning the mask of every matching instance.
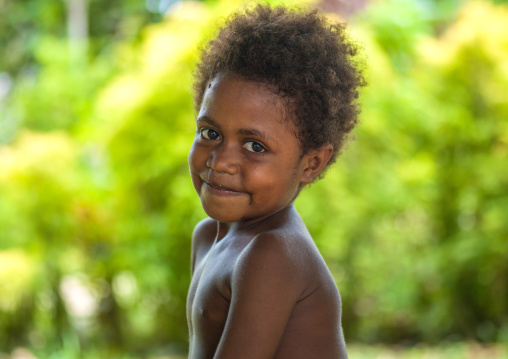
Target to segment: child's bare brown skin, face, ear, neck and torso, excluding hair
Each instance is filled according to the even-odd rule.
[[[207,88],[189,153],[190,359],[347,358],[334,280],[293,202],[328,162],[302,154],[283,101],[231,74]]]

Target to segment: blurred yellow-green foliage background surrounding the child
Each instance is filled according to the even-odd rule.
[[[367,64],[296,203],[350,357],[508,358],[506,1],[305,3]],[[185,357],[192,69],[244,4],[0,1],[1,358]]]

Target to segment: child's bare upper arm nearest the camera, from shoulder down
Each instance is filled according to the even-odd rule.
[[[255,238],[235,265],[228,318],[214,359],[273,358],[305,284],[287,241]]]

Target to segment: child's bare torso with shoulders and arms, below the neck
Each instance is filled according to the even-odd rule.
[[[194,231],[190,359],[347,358],[337,287],[291,206],[220,240]]]

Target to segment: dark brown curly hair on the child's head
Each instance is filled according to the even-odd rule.
[[[234,14],[204,48],[195,72],[199,111],[208,82],[231,73],[275,88],[287,100],[303,153],[330,143],[335,161],[357,123],[358,88],[365,85],[358,47],[344,24],[317,10],[257,5]]]

